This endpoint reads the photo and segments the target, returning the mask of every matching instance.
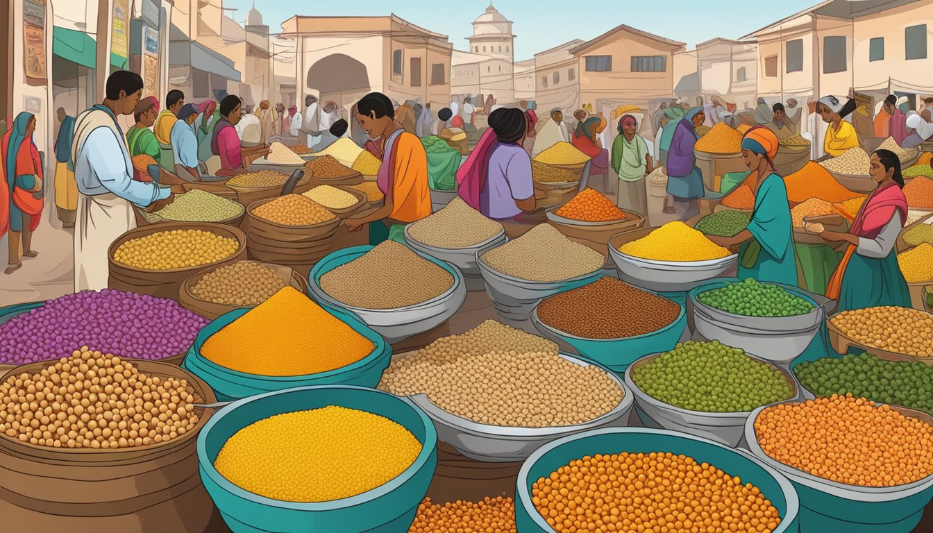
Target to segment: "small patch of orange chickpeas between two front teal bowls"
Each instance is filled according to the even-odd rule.
[[[425,498],[409,533],[516,533],[515,502],[512,498],[483,498],[472,502],[456,500],[443,505]]]

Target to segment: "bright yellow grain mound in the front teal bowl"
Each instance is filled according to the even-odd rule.
[[[350,498],[395,479],[421,453],[401,425],[330,405],[276,414],[237,431],[214,467],[230,483],[283,501]]]

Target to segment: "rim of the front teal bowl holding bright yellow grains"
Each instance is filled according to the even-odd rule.
[[[401,401],[411,409],[414,414],[417,414],[421,423],[425,428],[425,441],[421,442],[421,451],[418,452],[418,456],[415,457],[414,461],[409,465],[405,470],[402,470],[396,477],[392,478],[388,482],[381,484],[379,486],[373,487],[366,492],[350,496],[347,498],[340,499],[331,499],[327,501],[286,501],[283,499],[273,499],[267,498],[265,496],[260,496],[256,493],[249,492],[243,487],[230,482],[226,477],[223,476],[216,468],[214,467],[214,462],[210,460],[207,456],[206,441],[207,435],[210,433],[211,429],[216,426],[216,423],[222,419],[227,414],[232,413],[237,408],[244,406],[247,403],[264,400],[266,398],[283,395],[283,394],[300,394],[300,393],[310,393],[311,391],[327,391],[332,389],[349,389],[355,390],[357,393],[361,394],[373,394],[373,395],[384,395],[388,397],[386,401]],[[364,411],[363,409],[356,409],[357,411]],[[376,414],[378,416],[383,416],[382,414],[372,413],[371,411],[366,411],[370,414]],[[292,412],[289,412],[292,413]],[[265,418],[269,418],[274,414],[270,414]],[[383,416],[383,418],[387,418]],[[258,422],[255,421],[255,422]],[[243,428],[245,428],[244,426]],[[240,429],[243,429],[240,428]],[[421,470],[425,464],[427,464],[428,459],[432,456],[437,450],[438,442],[438,433],[434,428],[434,422],[430,417],[425,414],[425,412],[414,404],[411,400],[406,398],[399,398],[395,395],[377,390],[374,388],[369,388],[365,386],[349,386],[349,385],[318,385],[318,386],[297,386],[293,388],[285,388],[282,390],[276,390],[272,392],[265,392],[255,396],[249,396],[241,400],[236,400],[231,402],[229,405],[223,407],[217,411],[211,418],[207,421],[207,424],[203,426],[201,431],[198,434],[198,463],[199,469],[202,470],[203,475],[206,475],[211,479],[212,482],[217,484],[222,490],[230,493],[236,498],[245,499],[252,503],[257,503],[259,505],[265,505],[267,507],[274,507],[278,509],[285,509],[289,511],[299,511],[299,512],[325,512],[325,511],[335,511],[337,509],[347,509],[361,505],[368,501],[374,500],[376,498],[382,498],[383,496],[393,492],[399,488],[402,484],[405,484],[410,480],[415,472]],[[219,453],[220,450],[217,450]]]

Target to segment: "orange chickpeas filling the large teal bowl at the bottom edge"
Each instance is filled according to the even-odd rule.
[[[558,533],[771,532],[781,524],[760,489],[707,463],[664,452],[585,456],[532,485]]]

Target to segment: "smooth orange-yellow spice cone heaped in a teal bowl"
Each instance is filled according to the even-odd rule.
[[[328,372],[365,358],[373,344],[292,287],[204,343],[204,358],[232,371],[286,376]]]

